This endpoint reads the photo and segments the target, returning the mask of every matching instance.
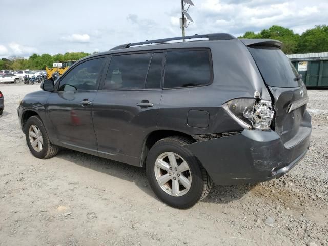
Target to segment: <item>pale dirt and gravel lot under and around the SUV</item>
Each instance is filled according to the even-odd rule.
[[[328,245],[328,90],[309,91],[311,148],[291,172],[215,186],[188,210],[160,202],[144,169],[69,150],[34,158],[16,110],[39,85],[0,90],[0,245]]]

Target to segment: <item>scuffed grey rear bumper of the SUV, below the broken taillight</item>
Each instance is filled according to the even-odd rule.
[[[186,145],[212,180],[221,185],[255,183],[279,178],[292,169],[310,145],[311,125],[283,143],[272,130],[243,130],[241,134]]]

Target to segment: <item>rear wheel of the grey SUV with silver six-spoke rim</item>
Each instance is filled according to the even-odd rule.
[[[161,139],[156,142],[150,149],[146,160],[146,174],[152,190],[163,202],[171,207],[178,209],[187,209],[194,206],[194,204],[196,204],[198,201],[204,199],[212,188],[212,179],[208,175],[207,171],[201,165],[199,160],[193,155],[193,153],[187,148],[183,147],[187,144],[192,144],[192,141],[184,137],[176,136]],[[158,158],[159,160],[163,160],[165,165],[170,162],[168,158],[169,156],[172,158],[171,153],[174,154],[174,159],[176,159],[175,162],[178,163],[178,169],[176,172],[174,172],[174,170],[166,171],[167,166],[165,166],[165,170],[161,169],[157,164],[159,163],[157,162]],[[180,167],[182,167],[180,166],[181,163],[183,163],[182,161],[187,162],[187,166],[189,168],[188,171],[179,172]],[[169,166],[171,165],[169,164]],[[172,178],[167,183],[165,183],[165,185],[160,186],[160,181],[157,180],[164,178],[164,176],[166,176],[166,180],[169,178],[167,174],[170,175],[170,178],[175,177],[175,181]],[[182,185],[182,181],[186,179],[182,180],[181,178],[188,179],[190,185],[189,189],[186,188],[187,186]],[[173,182],[176,182],[176,180],[178,180],[179,183],[178,186],[174,186],[178,187],[177,190],[173,188]],[[188,184],[186,181],[183,182]],[[182,191],[180,191],[180,188],[182,188]],[[174,192],[173,190],[177,192]]]

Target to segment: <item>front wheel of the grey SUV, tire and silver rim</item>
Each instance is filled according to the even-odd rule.
[[[36,127],[36,128],[34,128],[34,127]],[[38,131],[36,131],[35,129],[37,129]],[[40,117],[31,116],[27,120],[24,130],[25,130],[27,146],[29,147],[31,153],[35,157],[40,158],[40,159],[48,159],[48,158],[55,156],[58,153],[59,147],[51,144],[48,134],[46,132],[46,128],[43,125],[43,122],[40,119]],[[34,139],[37,140],[35,137],[35,134],[39,131],[41,133],[41,137],[38,135],[38,139],[42,138],[43,144],[42,144],[42,141],[40,140],[40,141],[38,141],[37,146],[33,147],[32,140],[34,140]],[[31,135],[31,132],[32,133],[34,132],[34,134]],[[32,140],[30,140],[30,137],[32,138]],[[33,142],[35,142],[35,141],[33,141]],[[40,142],[41,142],[41,145],[40,145]],[[41,146],[40,149],[38,148],[39,146]]]

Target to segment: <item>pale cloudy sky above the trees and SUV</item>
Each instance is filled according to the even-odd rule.
[[[186,35],[236,37],[272,25],[301,34],[328,24],[328,0],[192,0]],[[1,0],[0,57],[106,51],[146,39],[181,36],[180,0]]]

